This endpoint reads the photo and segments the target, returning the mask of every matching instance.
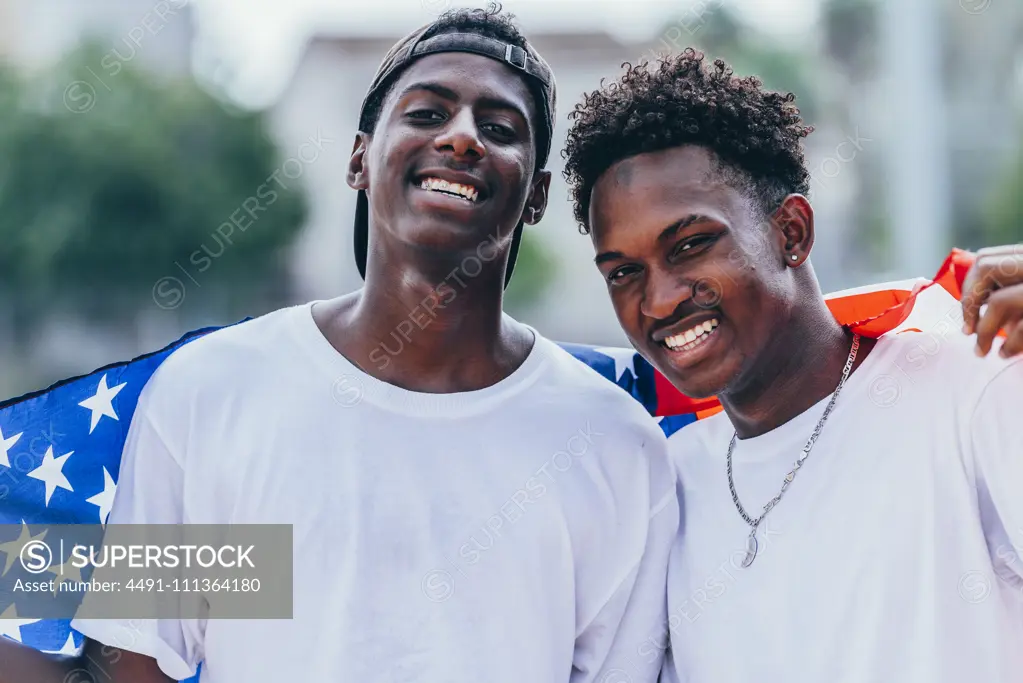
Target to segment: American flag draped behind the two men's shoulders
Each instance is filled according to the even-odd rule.
[[[839,322],[866,336],[959,332],[959,300],[973,261],[972,254],[955,249],[933,280],[840,291],[827,297],[828,306]],[[20,619],[4,597],[12,577],[24,571],[17,555],[32,538],[31,527],[24,526],[106,521],[142,389],[175,350],[216,329],[189,332],[155,353],[0,403],[0,523],[20,525],[26,534],[0,542],[0,635],[48,652],[73,654],[81,647],[82,636],[70,622]],[[561,346],[628,392],[669,437],[721,409],[715,399],[680,394],[631,349]]]

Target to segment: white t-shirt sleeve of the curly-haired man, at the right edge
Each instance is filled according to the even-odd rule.
[[[1023,359],[983,389],[970,422],[980,519],[996,572],[1023,580]]]

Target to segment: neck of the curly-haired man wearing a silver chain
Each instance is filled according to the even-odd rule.
[[[852,371],[875,344],[876,339],[860,338]],[[851,348],[852,333],[835,320],[822,301],[808,313],[794,316],[786,333],[776,336],[761,356],[761,370],[754,371],[743,386],[719,397],[739,438],[766,434],[832,394]]]

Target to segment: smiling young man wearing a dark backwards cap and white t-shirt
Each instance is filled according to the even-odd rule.
[[[501,311],[554,109],[499,14],[403,40],[349,168],[364,288],[197,339],[143,391],[108,522],[294,525],[294,619],[79,620],[82,657],[4,643],[0,680],[657,679],[666,440]]]

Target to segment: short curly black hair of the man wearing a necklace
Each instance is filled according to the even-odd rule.
[[[792,93],[770,92],[756,77],[739,78],[721,59],[713,67],[687,48],[655,66],[626,62],[625,74],[584,95],[562,155],[575,218],[589,232],[593,185],[614,164],[681,145],[712,151],[720,172],[744,186],[769,215],[787,194],[809,192],[803,126]]]

